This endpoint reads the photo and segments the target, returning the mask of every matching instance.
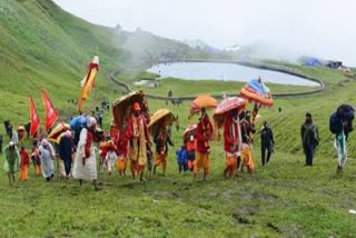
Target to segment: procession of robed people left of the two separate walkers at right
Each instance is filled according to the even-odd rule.
[[[10,185],[14,184],[17,176],[22,181],[28,180],[30,163],[33,165],[34,175],[42,176],[48,182],[51,181],[55,177],[55,161],[59,165],[56,171],[59,177],[78,179],[80,185],[83,180],[91,180],[96,190],[101,189],[100,182],[97,181],[98,168],[108,175],[117,170],[120,176],[126,176],[128,166],[132,179],[140,181],[146,181],[146,171],[156,175],[158,167],[166,176],[168,147],[174,146],[171,122],[164,122],[157,131],[149,131],[147,118],[139,102],[132,105],[129,115],[125,130],[115,131],[113,135],[111,132],[111,137],[102,136],[100,130],[98,132],[98,122],[95,117],[80,116],[78,120],[85,118],[86,121],[82,127],[65,131],[56,143],[46,137],[33,138],[30,150],[21,142],[23,130],[19,128],[18,132],[10,133],[11,140],[3,151],[4,170],[8,172]],[[244,167],[248,172],[255,169],[251,147],[256,129],[250,117],[249,111],[238,112],[234,109],[225,120],[222,136],[226,155],[225,177],[233,177],[237,170],[243,171]],[[265,137],[263,138],[265,141],[263,165],[268,163],[274,146],[273,132],[266,121],[264,129],[267,129],[267,136],[261,133],[261,137],[263,135]],[[202,108],[196,128],[184,136],[184,142],[176,151],[178,171],[191,171],[192,177],[196,178],[202,170],[204,180],[206,180],[210,172],[209,157],[212,138],[214,126],[207,110]],[[152,143],[155,143],[154,151]],[[96,145],[99,146],[96,147]]]

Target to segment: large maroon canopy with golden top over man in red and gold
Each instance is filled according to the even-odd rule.
[[[112,103],[112,116],[113,125],[121,130],[125,121],[130,116],[131,107],[135,102],[139,102],[141,110],[147,119],[147,122],[150,121],[149,108],[142,90],[132,91],[121,98],[117,99]]]

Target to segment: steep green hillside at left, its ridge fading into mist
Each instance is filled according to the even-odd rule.
[[[167,52],[182,57],[189,51],[186,44],[149,32],[91,24],[48,0],[2,0],[0,33],[0,121],[10,119],[13,125],[28,120],[29,95],[42,113],[41,88],[49,91],[65,117],[75,111],[67,100],[79,97],[79,82],[97,50],[100,71],[97,89],[85,107],[88,112],[97,101],[116,93],[106,78],[110,69],[149,63]]]

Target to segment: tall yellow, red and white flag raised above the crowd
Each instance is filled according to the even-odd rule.
[[[89,92],[95,87],[96,76],[98,71],[99,71],[99,57],[95,56],[93,59],[89,62],[87,75],[80,82],[81,91],[78,100],[79,112],[81,112],[85,100],[87,100]]]

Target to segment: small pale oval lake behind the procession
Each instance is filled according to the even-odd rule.
[[[155,72],[161,78],[180,78],[186,80],[225,80],[247,82],[256,79],[258,76],[264,82],[293,86],[316,87],[318,83],[306,80],[296,76],[277,72],[273,70],[257,69],[236,63],[217,63],[217,62],[174,62],[159,63],[147,71]]]

